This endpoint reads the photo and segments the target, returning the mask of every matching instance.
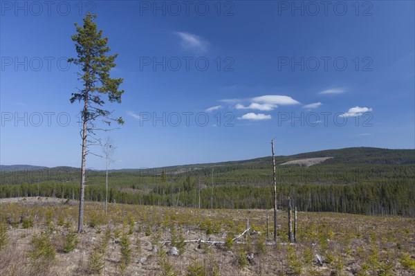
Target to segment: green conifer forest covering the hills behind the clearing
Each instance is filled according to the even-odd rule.
[[[332,157],[317,165],[289,160]],[[355,147],[276,156],[278,208],[415,216],[415,150]],[[86,172],[87,201],[104,201],[105,172]],[[2,166],[0,198],[78,199],[80,169]],[[273,208],[272,158],[109,172],[109,202],[192,208]]]

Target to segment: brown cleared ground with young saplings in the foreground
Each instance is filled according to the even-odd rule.
[[[109,204],[105,215],[88,202],[82,234],[77,210],[62,199],[1,200],[0,275],[415,275],[414,218],[299,212],[288,243],[281,210],[273,243],[271,210]],[[172,246],[179,255],[166,253]]]

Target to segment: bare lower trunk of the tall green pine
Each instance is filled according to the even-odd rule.
[[[80,212],[78,220],[78,230],[84,231],[84,197],[85,197],[85,161],[86,161],[86,121],[88,119],[88,93],[85,94],[85,104],[83,111],[82,126],[82,163],[81,163],[81,183],[80,183]]]

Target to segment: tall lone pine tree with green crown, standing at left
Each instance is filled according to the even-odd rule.
[[[88,145],[100,144],[100,139],[95,138],[95,131],[102,129],[98,127],[95,120],[102,119],[104,125],[110,126],[111,122],[124,124],[122,118],[112,118],[111,111],[102,109],[105,102],[102,94],[108,95],[109,102],[121,102],[123,90],[118,90],[122,78],[111,79],[109,72],[115,67],[114,60],[118,54],[107,55],[110,48],[107,46],[108,38],[102,38],[102,30],[97,32],[97,24],[93,19],[97,16],[88,13],[84,18],[84,25],[78,26],[75,23],[77,34],[71,38],[75,42],[77,57],[68,59],[68,62],[79,66],[82,73],[78,73],[78,80],[82,83],[82,89],[72,93],[71,103],[83,102],[81,111],[82,118],[82,158],[81,158],[81,181],[80,181],[80,210],[77,232],[84,230],[84,197],[85,197],[85,163],[88,154]]]

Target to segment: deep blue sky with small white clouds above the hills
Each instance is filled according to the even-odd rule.
[[[89,10],[124,78],[112,168],[415,147],[414,1],[1,1],[2,165],[80,167]]]

